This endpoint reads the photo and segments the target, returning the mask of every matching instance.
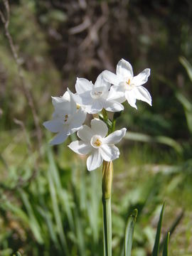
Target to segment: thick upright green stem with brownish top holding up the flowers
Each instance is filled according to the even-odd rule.
[[[112,188],[112,161],[103,162],[102,168],[102,206],[103,206],[103,234],[104,255],[112,256],[112,213],[111,213],[111,188]]]

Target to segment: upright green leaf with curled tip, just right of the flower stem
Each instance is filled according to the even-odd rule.
[[[124,256],[131,256],[134,224],[136,223],[138,210],[134,209],[127,220],[124,236]]]

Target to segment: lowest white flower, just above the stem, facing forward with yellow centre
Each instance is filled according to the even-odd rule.
[[[88,171],[97,169],[103,160],[112,161],[119,157],[119,149],[114,144],[120,142],[126,129],[117,130],[108,136],[107,133],[107,124],[95,118],[91,120],[91,128],[83,125],[82,129],[78,131],[78,137],[81,140],[68,145],[75,153],[90,154],[87,158]]]

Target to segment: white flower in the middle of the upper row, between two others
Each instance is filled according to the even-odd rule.
[[[85,78],[78,78],[75,84],[77,94],[73,95],[76,102],[85,106],[85,111],[90,114],[96,114],[103,108],[107,111],[118,112],[124,109],[123,105],[115,100],[108,100],[110,82],[102,78],[100,74],[92,84]]]

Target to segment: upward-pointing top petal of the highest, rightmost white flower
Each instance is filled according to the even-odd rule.
[[[116,74],[121,78],[132,78],[133,77],[133,69],[132,65],[124,59],[119,60],[117,64]]]

